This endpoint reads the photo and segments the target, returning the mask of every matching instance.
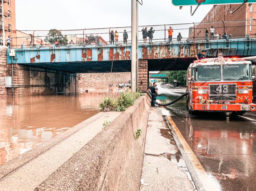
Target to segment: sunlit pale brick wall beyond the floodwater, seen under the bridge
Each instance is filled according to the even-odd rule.
[[[118,73],[82,73],[77,74],[77,90],[80,88],[94,88],[96,90],[108,91],[109,84],[121,84],[129,83],[131,79],[130,72],[118,72]]]

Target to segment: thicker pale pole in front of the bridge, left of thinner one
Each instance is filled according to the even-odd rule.
[[[138,81],[138,78],[136,78],[136,34],[137,30],[137,0],[131,0],[131,90],[133,92],[136,91],[136,81]]]

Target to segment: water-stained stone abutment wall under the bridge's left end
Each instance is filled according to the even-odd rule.
[[[12,88],[5,88],[5,76],[12,76],[12,67],[11,64],[7,65],[5,51],[6,48],[0,51],[0,96],[11,96]],[[14,64],[15,96],[75,91],[75,74],[21,65],[17,65],[17,68]]]

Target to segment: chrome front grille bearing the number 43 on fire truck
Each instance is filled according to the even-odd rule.
[[[209,84],[209,99],[213,101],[234,101],[237,99],[237,84]]]

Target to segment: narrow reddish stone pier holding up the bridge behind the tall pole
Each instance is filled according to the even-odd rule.
[[[138,86],[141,91],[148,88],[149,73],[147,69],[147,60],[139,60],[138,64]]]

